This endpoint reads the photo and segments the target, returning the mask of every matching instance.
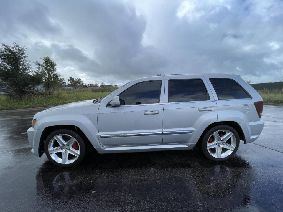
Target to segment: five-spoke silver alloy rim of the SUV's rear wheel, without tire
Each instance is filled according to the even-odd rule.
[[[217,130],[207,141],[207,150],[214,158],[225,158],[236,148],[236,137],[229,130]]]

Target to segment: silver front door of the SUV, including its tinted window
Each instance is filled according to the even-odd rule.
[[[152,79],[152,78],[151,78]],[[98,138],[101,146],[162,144],[164,76],[131,82],[117,94],[119,107],[111,100],[98,110]]]

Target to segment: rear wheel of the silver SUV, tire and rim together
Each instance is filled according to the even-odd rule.
[[[236,153],[239,144],[238,132],[233,127],[219,125],[205,133],[202,140],[202,150],[208,159],[223,161]]]

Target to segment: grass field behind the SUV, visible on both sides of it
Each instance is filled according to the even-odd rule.
[[[282,90],[258,90],[257,92],[263,98],[264,104],[283,104]],[[109,93],[108,90],[97,92],[95,89],[84,88],[80,90],[60,90],[58,95],[56,92],[52,95],[34,95],[24,97],[22,100],[10,100],[6,95],[0,95],[0,110],[62,105],[69,102],[105,97]]]

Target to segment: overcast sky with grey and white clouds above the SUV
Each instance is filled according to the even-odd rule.
[[[0,42],[49,55],[65,78],[124,84],[156,74],[233,73],[274,82],[283,2],[0,0]]]

